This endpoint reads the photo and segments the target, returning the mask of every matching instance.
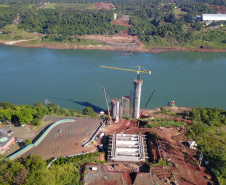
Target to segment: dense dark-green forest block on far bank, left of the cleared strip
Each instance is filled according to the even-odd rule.
[[[77,11],[73,9],[30,10],[21,14],[19,28],[28,32],[63,35],[113,34],[109,11]]]

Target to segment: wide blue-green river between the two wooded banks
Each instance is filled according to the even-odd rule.
[[[0,46],[0,102],[30,104],[47,99],[61,107],[96,111],[106,109],[108,98],[129,96],[136,72],[100,66],[152,71],[141,74],[141,108],[157,89],[147,108],[166,106],[219,107],[226,109],[226,53],[53,50]],[[136,69],[133,68],[133,69]]]

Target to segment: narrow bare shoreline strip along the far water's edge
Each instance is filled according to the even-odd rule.
[[[41,43],[41,44],[28,44],[29,40],[18,40],[18,41],[5,41],[0,40],[0,45],[9,45],[9,46],[17,46],[17,47],[25,47],[25,48],[48,48],[48,49],[83,49],[83,50],[106,50],[106,51],[124,51],[124,52],[139,52],[139,53],[162,53],[167,51],[185,51],[185,52],[211,52],[211,53],[224,53],[226,52],[226,48],[223,49],[215,49],[215,48],[196,48],[196,49],[188,49],[180,46],[171,46],[164,47],[158,46],[145,49],[144,45],[138,43],[138,47],[117,47],[110,45],[75,45],[75,44],[67,44],[67,43]]]

